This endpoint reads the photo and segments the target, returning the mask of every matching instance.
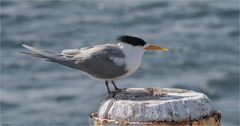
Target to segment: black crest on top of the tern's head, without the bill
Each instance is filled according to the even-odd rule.
[[[146,44],[144,40],[137,37],[128,36],[128,35],[119,36],[117,40],[131,44],[133,46],[144,46]]]

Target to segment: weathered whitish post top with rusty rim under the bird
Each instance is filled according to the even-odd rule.
[[[176,88],[129,88],[105,96],[93,125],[220,125],[221,113],[199,92]]]

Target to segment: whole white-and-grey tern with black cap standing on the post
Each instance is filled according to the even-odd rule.
[[[145,50],[168,50],[127,35],[118,37],[117,42],[80,49],[65,49],[61,54],[23,44],[22,46],[30,51],[21,51],[21,53],[81,70],[105,82],[108,93],[111,93],[108,83],[111,82],[115,90],[119,91],[114,81],[133,74],[139,68]]]

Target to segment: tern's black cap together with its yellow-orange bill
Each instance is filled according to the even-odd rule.
[[[143,50],[168,51],[167,48],[161,47],[159,45],[148,44],[143,39],[133,37],[133,36],[123,35],[123,36],[119,36],[117,40],[129,45],[132,45],[134,47],[135,46],[141,47]]]

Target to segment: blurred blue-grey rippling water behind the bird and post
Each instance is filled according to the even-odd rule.
[[[19,54],[22,43],[60,52],[141,37],[168,47],[146,52],[119,87],[205,93],[223,125],[239,125],[239,2],[1,0],[1,122],[87,125],[106,87],[78,70]]]

